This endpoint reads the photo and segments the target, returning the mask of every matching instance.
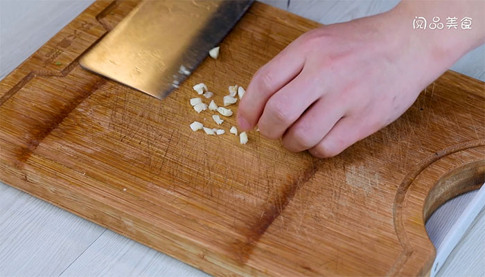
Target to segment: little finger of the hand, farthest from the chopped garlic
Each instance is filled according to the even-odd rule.
[[[348,116],[340,119],[328,134],[308,152],[318,158],[334,157],[353,143],[377,132],[380,125],[375,120],[360,116]]]

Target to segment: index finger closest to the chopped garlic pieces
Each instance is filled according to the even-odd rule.
[[[267,100],[303,69],[305,57],[294,42],[256,72],[238,107],[238,125],[252,129],[263,114]]]

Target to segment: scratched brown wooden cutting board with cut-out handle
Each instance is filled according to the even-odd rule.
[[[1,81],[2,181],[209,274],[429,272],[425,220],[485,179],[483,82],[448,71],[333,159],[292,154],[258,132],[240,145],[191,131],[194,120],[213,124],[190,107],[192,85],[222,102],[319,24],[254,3],[220,59],[157,100],[77,62],[134,6],[94,3]]]

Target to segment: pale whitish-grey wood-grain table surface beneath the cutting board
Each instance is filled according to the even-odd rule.
[[[0,0],[0,80],[91,0]],[[389,10],[397,1],[264,1],[332,24]],[[21,36],[19,34],[22,34]],[[452,69],[485,81],[485,47]],[[1,116],[1,115],[0,115]],[[439,245],[474,192],[450,200],[426,224]],[[438,276],[485,276],[485,211]],[[0,276],[206,276],[183,262],[0,182]]]

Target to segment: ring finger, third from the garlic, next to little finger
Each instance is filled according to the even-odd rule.
[[[317,145],[342,116],[344,106],[324,96],[313,104],[283,135],[283,145],[292,152],[300,152]]]

